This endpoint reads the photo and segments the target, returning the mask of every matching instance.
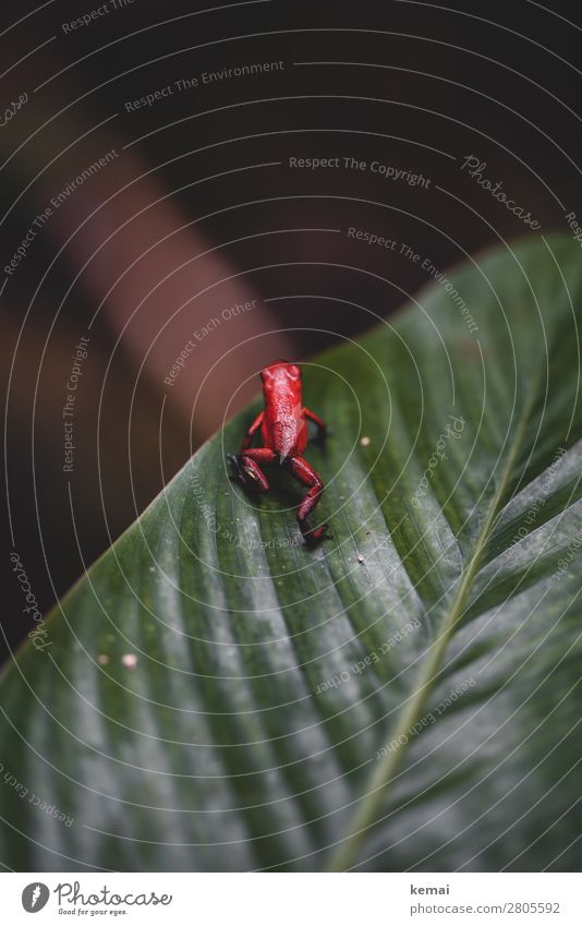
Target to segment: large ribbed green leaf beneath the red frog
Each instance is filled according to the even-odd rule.
[[[258,400],[195,454],[3,673],[3,863],[578,868],[581,297],[530,238],[305,364],[316,550]]]

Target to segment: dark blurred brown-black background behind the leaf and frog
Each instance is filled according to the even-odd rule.
[[[2,266],[56,192],[120,153],[56,212],[0,297],[1,555],[9,567],[17,551],[43,612],[253,394],[263,363],[357,335],[428,281],[349,227],[407,242],[442,270],[533,233],[460,169],[470,154],[543,233],[582,215],[579,4],[275,0],[202,12],[109,0],[107,14],[63,32],[98,7],[4,2],[0,29],[1,108],[28,94],[0,129]],[[125,108],[204,71],[279,60],[279,71]],[[291,170],[290,156],[378,159],[431,184]],[[250,298],[259,311],[221,325],[165,385],[193,328]],[[61,407],[88,330],[69,476]],[[28,629],[8,573],[4,653]]]

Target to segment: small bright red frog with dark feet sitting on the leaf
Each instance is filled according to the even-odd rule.
[[[240,454],[230,454],[234,476],[252,492],[268,492],[270,486],[260,466],[276,462],[284,466],[298,482],[307,488],[298,508],[298,521],[305,543],[312,545],[327,536],[327,525],[311,528],[307,524],[307,516],[322,497],[324,483],[302,454],[308,440],[307,420],[314,422],[322,438],[326,437],[327,428],[317,414],[303,407],[301,369],[295,363],[279,360],[265,366],[260,378],[265,408],[244,435]],[[263,446],[253,447],[258,429]]]

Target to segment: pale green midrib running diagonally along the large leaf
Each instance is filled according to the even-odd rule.
[[[536,396],[537,390],[532,389],[531,395],[532,397]],[[367,839],[371,827],[373,827],[377,820],[378,811],[386,797],[386,793],[396,775],[396,772],[400,768],[407,751],[407,747],[411,738],[408,733],[422,718],[422,712],[428,699],[428,695],[431,694],[433,684],[442,668],[444,657],[447,652],[449,641],[459,618],[464,611],[472,584],[481,568],[483,555],[490,539],[493,527],[500,507],[502,506],[510,476],[521,449],[528,421],[534,405],[535,401],[531,398],[524,407],[521,420],[514,432],[513,445],[507,456],[507,462],[502,470],[499,486],[493,497],[488,514],[483,522],[473,554],[461,574],[459,587],[451,602],[450,610],[442,620],[440,634],[425,657],[419,672],[416,688],[410,697],[408,706],[402,710],[400,721],[396,731],[391,734],[390,741],[386,743],[386,747],[389,743],[396,743],[396,746],[393,749],[387,750],[387,755],[378,761],[378,765],[374,769],[368,784],[364,790],[364,796],[357,798],[360,806],[355,810],[351,822],[348,825],[348,834],[343,837],[343,839],[339,840],[339,847],[334,853],[328,866],[326,867],[326,870],[328,871],[345,871],[357,862],[360,849]],[[401,736],[404,737],[403,745],[399,742]]]

